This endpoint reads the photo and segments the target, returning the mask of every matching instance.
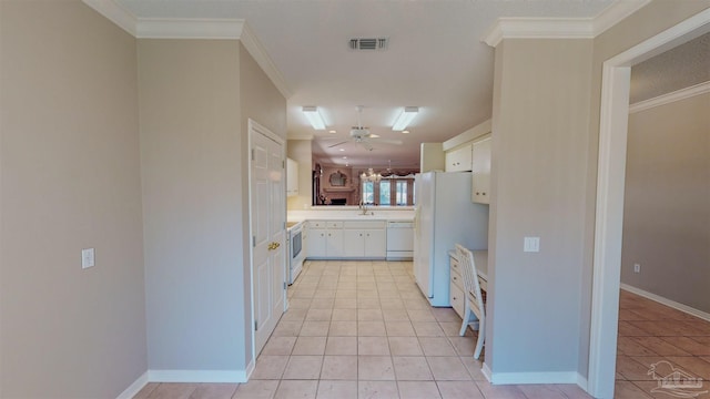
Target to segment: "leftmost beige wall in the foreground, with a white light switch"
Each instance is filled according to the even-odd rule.
[[[146,370],[135,40],[80,1],[0,25],[0,397],[115,398]]]

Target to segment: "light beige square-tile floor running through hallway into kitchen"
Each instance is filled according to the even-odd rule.
[[[491,386],[475,332],[432,308],[409,262],[307,262],[248,382],[149,383],[136,398],[589,398],[577,386]]]

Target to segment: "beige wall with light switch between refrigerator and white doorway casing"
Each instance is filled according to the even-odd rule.
[[[601,64],[708,7],[708,0],[656,0],[591,47],[504,40],[496,49],[491,190],[498,201],[490,205],[495,295],[486,358],[494,374],[587,377]],[[565,84],[569,91],[560,91]],[[521,253],[524,235],[541,237],[539,254]],[[542,278],[554,286],[540,288]],[[521,295],[528,287],[537,294]]]

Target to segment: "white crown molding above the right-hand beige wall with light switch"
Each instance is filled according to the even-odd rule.
[[[618,0],[594,18],[499,18],[484,42],[498,45],[503,39],[594,39],[651,0]]]

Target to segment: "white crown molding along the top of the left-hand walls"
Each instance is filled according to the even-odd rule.
[[[136,39],[239,40],[281,94],[285,99],[292,95],[281,71],[243,19],[136,18],[115,0],[83,2]]]

